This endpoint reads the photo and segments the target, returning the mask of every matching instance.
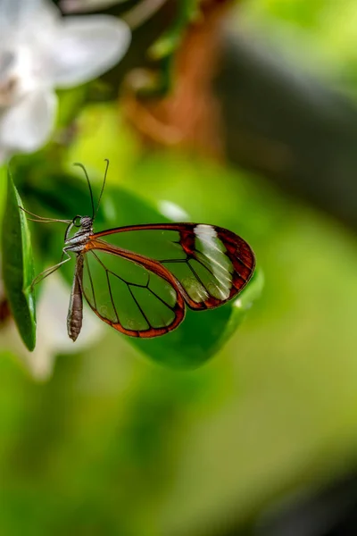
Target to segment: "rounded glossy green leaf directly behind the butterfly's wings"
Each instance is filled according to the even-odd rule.
[[[99,184],[93,184],[95,199],[98,197]],[[76,214],[90,214],[90,198],[84,180],[76,176],[56,175],[46,177],[36,191],[36,197],[42,209],[31,207],[41,215],[58,218],[72,218]],[[95,220],[95,230],[110,229],[121,225],[148,222],[167,222],[154,205],[136,194],[118,186],[108,185],[104,191],[101,207]],[[37,224],[39,225],[39,224]],[[63,246],[61,224],[41,226],[42,232],[51,233],[47,240],[41,240],[48,251],[53,252],[51,264],[58,262]],[[53,249],[55,245],[55,249]],[[51,249],[52,248],[52,249]],[[44,252],[45,254],[45,252]],[[73,263],[64,264],[61,272],[66,281],[73,278]],[[257,272],[252,281],[235,300],[212,311],[193,312],[187,309],[187,315],[175,331],[157,339],[133,339],[129,342],[150,356],[155,362],[171,367],[195,367],[214,356],[227,342],[242,322],[247,310],[262,291],[262,273]],[[63,319],[65,322],[65,319]],[[86,322],[86,320],[84,320]],[[99,319],[98,319],[98,322]],[[108,328],[110,329],[110,328]],[[119,335],[119,337],[124,337]]]

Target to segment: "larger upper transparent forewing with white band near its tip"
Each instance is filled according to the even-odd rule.
[[[105,241],[104,239],[105,238]],[[173,276],[187,305],[217,307],[244,289],[253,275],[251,247],[237,234],[203,223],[148,224],[95,233],[87,250],[106,250],[142,264],[145,259]],[[176,281],[176,283],[175,283]]]

